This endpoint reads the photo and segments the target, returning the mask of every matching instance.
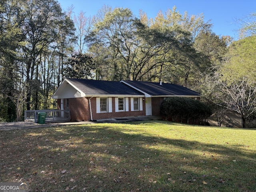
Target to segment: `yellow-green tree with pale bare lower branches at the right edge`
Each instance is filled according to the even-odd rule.
[[[240,114],[243,128],[256,111],[255,44],[255,36],[233,42],[213,75],[216,90],[224,95],[220,99]]]

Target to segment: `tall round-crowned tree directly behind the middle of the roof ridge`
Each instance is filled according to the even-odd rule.
[[[130,79],[132,60],[134,16],[125,8],[115,8],[105,13],[104,19],[96,20],[91,39],[94,46],[105,46],[112,51],[112,80]]]

